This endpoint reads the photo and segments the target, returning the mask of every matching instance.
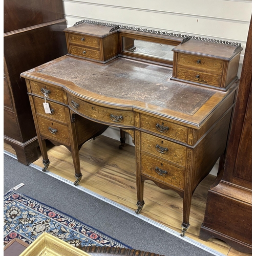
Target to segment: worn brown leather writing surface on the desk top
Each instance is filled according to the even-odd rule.
[[[71,81],[99,95],[137,100],[187,115],[193,115],[216,93],[170,81],[172,69],[121,58],[106,66],[66,58],[38,72]]]

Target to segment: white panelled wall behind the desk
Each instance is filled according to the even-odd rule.
[[[82,19],[242,44],[245,50],[251,0],[63,0],[68,27]],[[244,50],[240,62],[243,62]],[[120,138],[110,127],[104,135]],[[130,135],[126,142],[132,144]],[[212,171],[217,173],[217,168]]]

